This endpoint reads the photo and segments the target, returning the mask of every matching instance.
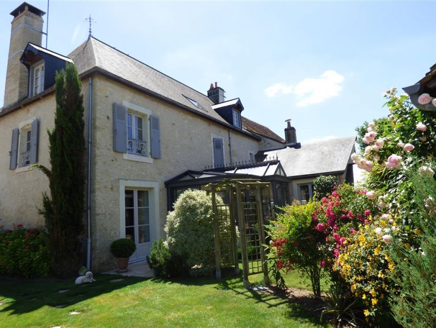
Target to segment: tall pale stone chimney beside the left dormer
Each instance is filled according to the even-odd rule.
[[[5,99],[3,106],[12,105],[27,97],[29,73],[19,58],[28,42],[41,46],[44,11],[24,2],[11,12],[11,40],[6,71]]]

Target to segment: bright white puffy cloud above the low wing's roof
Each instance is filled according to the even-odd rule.
[[[276,83],[265,89],[270,98],[278,94],[295,94],[298,99],[296,106],[305,107],[311,104],[319,104],[322,101],[337,96],[342,90],[344,76],[335,71],[325,71],[317,78],[305,78],[295,87],[284,83]]]

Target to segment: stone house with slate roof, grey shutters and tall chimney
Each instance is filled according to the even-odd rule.
[[[269,209],[264,211],[271,211],[274,203],[289,202],[292,164],[283,165],[282,153],[278,158],[274,149],[287,152],[295,142],[242,116],[241,99],[226,100],[224,89],[216,83],[203,94],[91,35],[68,55],[45,49],[41,46],[44,14],[28,3],[11,12],[5,100],[0,110],[3,226],[44,223],[37,207],[42,192],[48,191],[48,180],[32,164],[49,166],[46,130],[54,127],[54,75],[67,62],[74,63],[80,74],[88,122],[90,207],[84,219],[90,247],[87,265],[93,271],[113,268],[109,245],[120,237],[137,245],[130,261],[143,260],[152,242],[164,236],[167,211],[183,188],[201,188],[203,182],[223,177],[251,176],[274,186],[265,191]],[[338,147],[344,147],[338,149],[344,153],[338,157],[342,166],[325,171],[344,175],[354,146]]]

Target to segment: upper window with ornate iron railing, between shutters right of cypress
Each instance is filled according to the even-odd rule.
[[[127,113],[127,152],[148,157],[143,121],[147,122],[146,115],[138,116]]]

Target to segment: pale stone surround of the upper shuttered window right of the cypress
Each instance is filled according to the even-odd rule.
[[[126,100],[123,100],[123,106],[127,107],[128,114],[136,115],[142,118],[142,137],[143,140],[146,141],[147,143],[147,156],[124,153],[123,158],[127,160],[143,162],[143,163],[153,163],[153,158],[151,157],[151,145],[150,145],[150,116],[152,114],[151,110],[129,103]],[[126,125],[127,125],[127,119],[126,119]],[[128,133],[127,131],[128,129],[126,127],[126,133]]]

